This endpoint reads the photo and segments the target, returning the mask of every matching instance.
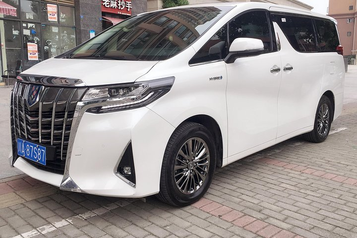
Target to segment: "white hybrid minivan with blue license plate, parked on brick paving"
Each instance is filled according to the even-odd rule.
[[[142,13],[17,77],[10,164],[62,190],[185,206],[216,168],[342,111],[331,17],[225,2]]]

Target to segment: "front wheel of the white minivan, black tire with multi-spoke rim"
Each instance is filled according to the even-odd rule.
[[[191,142],[189,142],[190,140]],[[182,151],[187,152],[184,153],[185,155],[188,154],[187,148],[189,146],[189,143],[191,143],[192,145],[191,148],[193,148],[194,145],[198,145],[195,148],[198,147],[202,148],[201,145],[204,144],[205,147],[202,149],[204,154],[201,155],[201,157],[199,157],[199,155],[202,154],[203,152],[199,153],[198,155],[196,152],[197,156],[193,156],[192,154],[192,156],[183,157],[181,155],[182,153],[179,155],[179,151],[181,150],[181,148]],[[198,148],[198,151],[200,148]],[[207,157],[207,151],[208,151],[208,157]],[[192,159],[190,159],[189,157],[192,157]],[[186,161],[189,161],[189,163],[186,163],[186,161],[184,161],[185,160],[184,158],[187,158]],[[204,160],[203,158],[206,159]],[[181,124],[174,131],[166,147],[162,168],[161,168],[160,192],[156,194],[157,198],[165,203],[174,206],[188,206],[198,201],[206,193],[207,189],[211,184],[215,167],[216,167],[216,158],[217,158],[217,150],[215,147],[213,136],[205,126],[195,122],[185,122]],[[203,160],[201,162],[198,162],[198,160],[200,159]],[[207,161],[209,163],[208,165],[199,164],[199,163],[207,163]],[[177,165],[176,168],[179,167],[184,167],[184,168],[175,170],[175,165]],[[206,169],[207,173],[205,173],[202,169],[198,167]],[[201,179],[202,177],[197,174],[198,171],[200,171],[199,173],[201,173],[201,175],[206,175],[203,181],[199,181],[199,179]],[[183,181],[182,178],[181,180],[179,179],[181,173],[183,173],[182,177],[184,177],[184,175],[187,175],[186,178],[191,179],[189,183],[189,187],[188,184],[186,185],[187,186],[186,192],[188,193],[184,193],[184,191],[180,191],[179,188],[181,184],[180,182],[181,181],[184,182],[186,180],[185,179]],[[192,176],[196,176],[196,177],[192,178]],[[178,185],[177,182],[179,183]],[[199,184],[201,185],[197,188]],[[182,186],[182,190],[185,190],[185,188],[186,187]],[[196,188],[197,190],[192,190],[194,188]]]

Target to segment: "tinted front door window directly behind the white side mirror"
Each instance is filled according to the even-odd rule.
[[[262,40],[264,44],[264,52],[271,51],[271,39],[266,11],[250,11],[230,21],[230,45],[236,38],[242,37]]]

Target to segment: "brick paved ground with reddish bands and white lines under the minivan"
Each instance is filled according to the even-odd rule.
[[[0,237],[357,238],[357,103],[321,144],[293,138],[219,169],[184,208],[0,180]]]

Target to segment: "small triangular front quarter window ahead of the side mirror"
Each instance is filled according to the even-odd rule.
[[[188,62],[201,63],[212,60],[224,59],[228,54],[227,44],[227,25],[222,27],[219,31],[211,37],[211,39],[194,55]]]

